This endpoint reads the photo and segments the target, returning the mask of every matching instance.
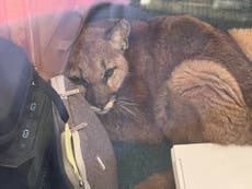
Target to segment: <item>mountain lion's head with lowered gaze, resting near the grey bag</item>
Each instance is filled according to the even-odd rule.
[[[128,74],[124,51],[129,32],[125,20],[90,23],[73,47],[69,78],[85,87],[85,98],[98,114],[114,106]]]

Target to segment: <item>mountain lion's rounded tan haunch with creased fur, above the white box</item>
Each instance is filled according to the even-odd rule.
[[[168,87],[173,104],[171,111],[176,111],[176,115],[164,125],[163,130],[170,139],[174,139],[173,142],[183,142],[180,141],[182,135],[179,140],[171,135],[171,130],[180,132],[182,127],[176,125],[177,119],[183,120],[182,114],[185,114],[185,108],[182,109],[183,113],[179,110],[182,104],[183,107],[191,106],[197,113],[198,118],[195,116],[194,119],[199,120],[198,128],[202,128],[204,140],[221,144],[251,143],[248,107],[236,79],[226,69],[214,61],[184,61],[172,72]],[[192,116],[192,113],[187,114]],[[191,138],[196,139],[193,133]]]

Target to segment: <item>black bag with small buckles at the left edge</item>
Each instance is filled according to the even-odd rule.
[[[51,99],[61,119],[61,98],[35,71],[25,52],[0,38],[1,189],[38,189],[44,156],[53,137]]]

